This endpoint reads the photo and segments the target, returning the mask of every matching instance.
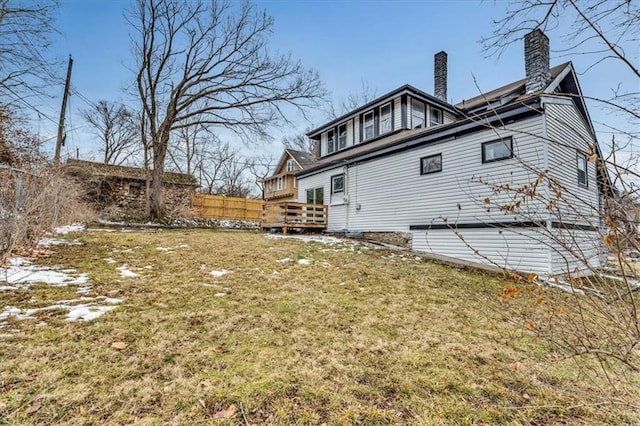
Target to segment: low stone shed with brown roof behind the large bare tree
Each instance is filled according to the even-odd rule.
[[[65,170],[80,183],[84,198],[105,218],[147,216],[147,176],[138,167],[116,166],[84,160],[67,160]],[[164,202],[168,212],[191,208],[191,198],[199,186],[185,173],[166,172],[163,180]]]

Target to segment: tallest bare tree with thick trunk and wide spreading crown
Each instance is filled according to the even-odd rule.
[[[269,54],[273,19],[247,2],[138,0],[129,22],[153,145],[152,218],[162,215],[171,132],[204,125],[265,135],[288,108],[304,113],[324,94],[315,73]]]

